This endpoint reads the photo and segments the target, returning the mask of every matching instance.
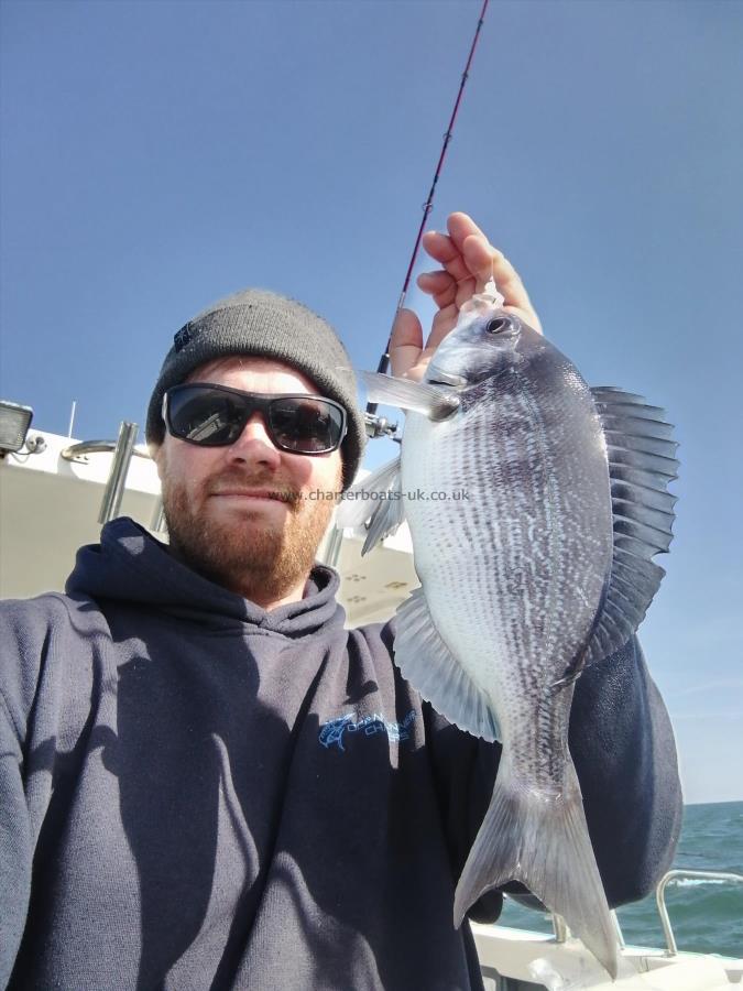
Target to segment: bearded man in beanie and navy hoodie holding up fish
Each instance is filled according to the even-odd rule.
[[[401,316],[397,374],[491,272],[537,324],[468,217],[425,244],[439,312],[425,348]],[[363,436],[342,346],[298,304],[247,291],[175,336],[147,417],[170,551],[113,521],[65,596],[1,614],[0,983],[482,987],[451,912],[499,748],[402,679],[394,625],[345,630],[313,567],[332,501],[310,493],[350,483]],[[609,901],[641,897],[680,792],[634,640],[579,679],[570,745]]]

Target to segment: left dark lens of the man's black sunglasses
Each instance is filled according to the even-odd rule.
[[[167,418],[176,437],[207,447],[233,444],[245,425],[244,404],[238,396],[203,385],[171,390]]]

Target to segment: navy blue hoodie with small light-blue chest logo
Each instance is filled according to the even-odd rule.
[[[265,612],[116,520],[66,595],[3,603],[0,987],[482,987],[452,900],[500,749],[337,587]],[[579,679],[570,749],[609,901],[641,897],[680,791],[635,641]]]

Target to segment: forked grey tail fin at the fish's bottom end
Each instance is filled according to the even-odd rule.
[[[503,771],[457,885],[455,926],[485,891],[521,881],[615,979],[616,934],[572,763],[566,788],[549,797]]]

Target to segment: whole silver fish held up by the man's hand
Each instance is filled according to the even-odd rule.
[[[420,588],[398,609],[395,663],[450,722],[502,741],[455,925],[517,880],[615,978],[568,722],[576,678],[624,646],[664,575],[652,558],[671,540],[677,445],[662,410],[589,389],[493,288],[462,308],[424,383],[364,373],[371,400],[406,411],[402,455],[338,523],[375,507],[369,549],[404,510]]]

